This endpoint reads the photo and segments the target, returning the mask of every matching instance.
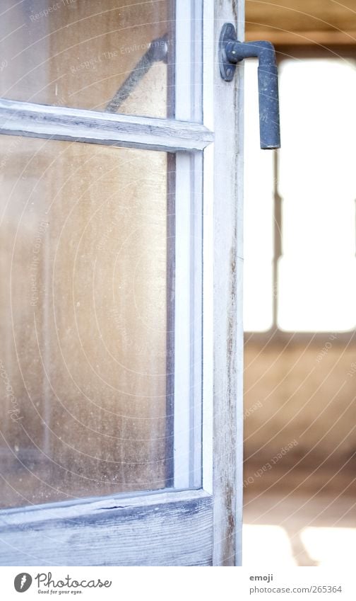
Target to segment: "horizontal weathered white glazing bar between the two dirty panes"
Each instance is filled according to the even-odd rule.
[[[202,150],[213,133],[199,123],[99,113],[0,99],[0,133],[161,151]]]

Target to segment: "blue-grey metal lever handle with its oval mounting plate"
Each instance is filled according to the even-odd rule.
[[[278,71],[271,42],[239,42],[232,23],[225,23],[220,33],[220,74],[232,81],[236,64],[247,58],[259,59],[259,121],[262,149],[280,148]]]

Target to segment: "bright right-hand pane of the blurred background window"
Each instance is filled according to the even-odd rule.
[[[353,61],[283,62],[278,324],[285,330],[356,325],[355,96]]]

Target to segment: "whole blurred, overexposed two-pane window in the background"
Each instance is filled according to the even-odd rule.
[[[350,331],[355,61],[281,61],[283,140],[274,156],[259,150],[256,64],[245,69],[245,330]]]

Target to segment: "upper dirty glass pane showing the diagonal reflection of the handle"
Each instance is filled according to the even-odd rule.
[[[172,15],[172,0],[3,0],[0,96],[105,110],[121,90],[114,112],[172,115]]]

